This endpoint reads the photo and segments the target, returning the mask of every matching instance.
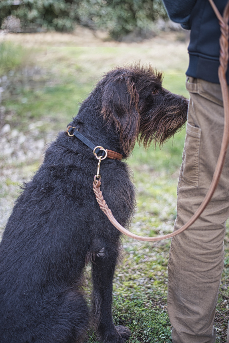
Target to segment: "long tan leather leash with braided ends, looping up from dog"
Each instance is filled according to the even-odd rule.
[[[221,148],[220,148],[220,153],[218,157],[218,161],[216,164],[216,168],[213,174],[213,179],[210,184],[210,187],[207,191],[207,194],[201,203],[200,207],[197,209],[197,211],[193,214],[193,216],[190,218],[190,220],[184,224],[180,229],[174,231],[171,234],[164,235],[164,236],[159,236],[159,237],[143,237],[143,236],[138,236],[127,229],[125,229],[122,225],[120,225],[115,217],[112,215],[112,212],[110,209],[108,209],[108,206],[103,198],[103,193],[100,191],[100,181],[96,181],[96,184],[93,182],[93,190],[96,196],[96,200],[98,201],[98,204],[101,208],[101,210],[107,215],[109,221],[123,234],[134,238],[138,240],[143,240],[143,241],[157,241],[157,240],[162,240],[166,238],[170,238],[173,236],[176,236],[186,230],[190,225],[192,225],[197,218],[201,215],[201,213],[204,211],[206,208],[207,204],[211,200],[215,189],[218,185],[222,167],[224,165],[225,161],[225,156],[227,152],[227,146],[228,146],[228,141],[229,141],[229,94],[228,94],[228,85],[227,85],[227,79],[226,79],[226,71],[227,71],[227,66],[228,66],[228,38],[229,38],[229,26],[228,26],[228,20],[229,20],[229,1],[224,9],[224,14],[223,17],[219,13],[215,3],[213,0],[209,0],[210,4],[212,5],[212,8],[219,19],[219,25],[220,25],[220,31],[221,31],[221,36],[219,39],[220,43],[220,57],[219,57],[219,62],[220,66],[218,69],[218,76],[219,76],[219,83],[221,86],[221,92],[222,92],[222,100],[223,100],[223,105],[224,105],[224,132],[223,132],[223,137],[222,137],[222,143],[221,143]],[[118,199],[117,199],[118,200]]]

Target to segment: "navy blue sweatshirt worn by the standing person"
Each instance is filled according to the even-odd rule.
[[[189,68],[186,75],[205,81],[219,83],[219,37],[218,19],[208,0],[163,0],[170,19],[191,29]],[[227,0],[214,0],[222,14]],[[229,84],[229,71],[227,71]]]

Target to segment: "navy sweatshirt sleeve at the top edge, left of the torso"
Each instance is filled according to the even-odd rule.
[[[175,23],[181,24],[186,30],[190,30],[190,15],[196,0],[163,0],[169,18]]]

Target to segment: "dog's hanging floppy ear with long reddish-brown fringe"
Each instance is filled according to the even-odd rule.
[[[104,87],[101,113],[108,125],[116,125],[120,133],[120,144],[126,155],[133,150],[138,136],[138,102],[139,95],[131,78],[119,78]]]

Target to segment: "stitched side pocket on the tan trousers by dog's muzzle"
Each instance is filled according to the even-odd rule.
[[[201,129],[187,123],[181,179],[194,187],[198,186],[200,138]]]

